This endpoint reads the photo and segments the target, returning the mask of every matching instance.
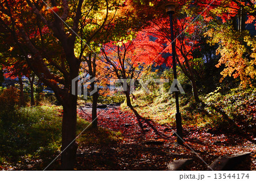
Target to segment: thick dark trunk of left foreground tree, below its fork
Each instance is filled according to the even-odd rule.
[[[77,95],[69,95],[63,103],[61,170],[73,170],[76,163]]]

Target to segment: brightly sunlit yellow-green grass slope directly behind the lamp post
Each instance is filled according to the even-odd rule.
[[[140,90],[134,93],[132,103],[141,116],[154,120],[159,124],[176,125],[176,102],[174,95],[147,95]],[[191,96],[189,98],[187,96],[180,96],[179,106],[181,121],[185,126],[204,127],[213,118],[212,116],[205,115],[204,112],[200,112],[198,105]],[[126,107],[126,102],[121,104],[121,108],[129,110]]]

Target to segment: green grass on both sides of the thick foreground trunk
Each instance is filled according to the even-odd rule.
[[[61,106],[20,107],[10,116],[0,113],[0,167],[10,166],[24,170],[42,170],[60,153]],[[87,128],[88,127],[88,128]],[[90,128],[89,122],[77,119],[79,145],[106,145],[117,142],[120,133],[99,128]],[[53,163],[57,169],[59,162]]]

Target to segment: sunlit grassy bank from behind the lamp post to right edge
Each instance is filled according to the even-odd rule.
[[[191,94],[179,95],[182,124],[185,127],[216,128],[230,132],[243,129],[254,133],[256,130],[255,98],[256,89],[241,90],[240,87],[230,91],[222,91],[219,88],[208,95],[201,96],[200,99],[204,103],[195,102]],[[176,125],[174,95],[151,95],[138,91],[134,93],[133,105],[136,105],[135,109],[143,117],[159,124]],[[127,109],[125,103],[121,108]]]

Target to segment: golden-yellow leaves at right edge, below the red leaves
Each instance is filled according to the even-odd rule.
[[[220,81],[232,76],[239,77],[242,86],[250,84],[250,79],[256,76],[256,37],[246,31],[241,33],[223,27],[212,28],[205,36],[210,37],[208,43],[219,45],[216,54],[220,54],[221,58],[216,67],[225,65]]]

